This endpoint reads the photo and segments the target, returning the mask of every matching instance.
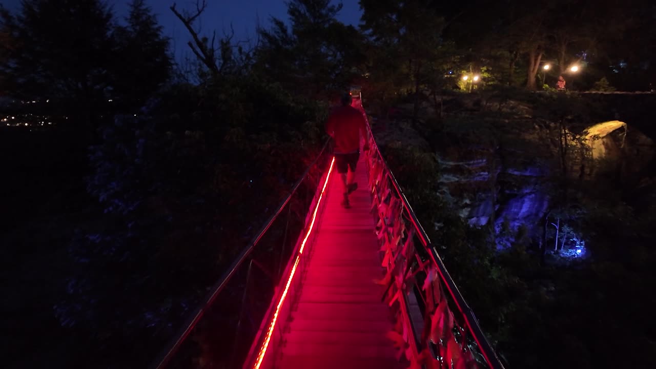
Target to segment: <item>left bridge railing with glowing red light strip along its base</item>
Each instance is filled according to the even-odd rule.
[[[299,258],[300,253],[306,242],[311,242],[309,230],[320,210],[319,199],[332,167],[328,143],[209,289],[152,368],[260,368],[264,353],[267,360],[275,357],[271,354],[276,351],[280,326],[287,320],[285,312],[276,307],[282,305],[277,303],[285,296],[295,297],[295,284],[301,279],[295,278],[292,286],[287,283],[288,278],[291,282],[290,273],[293,277],[306,263],[307,258]],[[279,324],[274,327],[276,320]],[[262,326],[272,321],[274,324]],[[261,367],[270,367],[268,364]]]

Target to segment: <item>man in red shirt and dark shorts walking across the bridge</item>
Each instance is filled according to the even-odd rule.
[[[342,106],[335,108],[326,121],[326,132],[335,141],[334,154],[337,173],[344,184],[344,200],[342,206],[348,208],[348,194],[358,188],[354,182],[356,165],[360,156],[360,133],[365,141],[364,149],[369,150],[367,145],[367,126],[362,112],[351,106],[351,95],[342,95]],[[347,174],[348,173],[348,174]]]

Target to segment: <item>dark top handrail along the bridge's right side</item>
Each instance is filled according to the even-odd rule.
[[[443,261],[441,260],[440,255],[438,255],[438,252],[435,250],[434,246],[432,246],[430,242],[430,238],[428,238],[428,234],[426,234],[426,231],[421,226],[419,219],[417,219],[417,215],[415,214],[415,211],[413,211],[407,198],[405,197],[405,194],[403,194],[403,190],[401,190],[401,186],[399,185],[398,181],[396,181],[396,177],[394,177],[394,173],[392,173],[392,170],[387,165],[387,162],[384,160],[382,153],[380,152],[380,148],[376,140],[374,139],[373,132],[371,131],[371,126],[369,125],[369,119],[366,119],[366,121],[367,121],[367,131],[371,136],[371,142],[373,142],[373,146],[375,146],[376,152],[382,164],[386,168],[386,176],[390,179],[390,182],[394,186],[394,189],[396,190],[396,193],[398,194],[398,197],[400,198],[403,207],[407,211],[407,214],[409,215],[411,222],[413,223],[415,229],[417,230],[417,235],[419,236],[422,245],[428,251],[432,263],[437,267],[437,270],[441,276],[441,280],[447,286],[449,293],[453,298],[453,301],[457,305],[460,313],[464,318],[464,322],[467,328],[470,330],[470,332],[472,332],[472,336],[474,337],[474,340],[476,341],[478,347],[480,348],[483,357],[485,357],[485,360],[487,361],[487,364],[490,366],[490,368],[503,369],[504,366],[501,363],[501,360],[499,360],[497,353],[494,351],[491,344],[487,340],[487,337],[485,337],[485,334],[483,334],[483,330],[481,329],[480,324],[478,323],[478,319],[476,319],[474,312],[466,303],[464,297],[462,297],[462,294],[458,290],[458,287],[453,281],[453,278],[451,278],[451,275],[449,274]]]

